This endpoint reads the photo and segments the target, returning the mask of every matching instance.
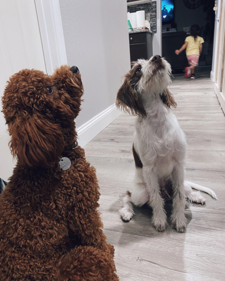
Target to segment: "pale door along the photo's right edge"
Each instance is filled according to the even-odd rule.
[[[221,1],[219,13],[218,48],[216,60],[215,92],[225,113],[225,1]]]

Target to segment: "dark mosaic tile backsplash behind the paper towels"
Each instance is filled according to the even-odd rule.
[[[135,13],[136,11],[141,10],[144,10],[145,13],[150,13],[151,30],[152,32],[156,33],[156,1],[127,7],[127,11],[130,13]]]

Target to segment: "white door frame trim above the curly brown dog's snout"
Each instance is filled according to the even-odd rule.
[[[48,75],[67,64],[59,0],[34,0]]]

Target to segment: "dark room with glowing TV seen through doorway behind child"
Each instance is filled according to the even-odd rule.
[[[183,50],[176,55],[175,50],[180,49],[190,36],[191,26],[198,25],[198,35],[205,42],[195,71],[207,72],[209,75],[213,55],[214,1],[191,3],[185,0],[162,0],[162,56],[171,64],[173,73],[183,73],[188,66],[186,52]]]

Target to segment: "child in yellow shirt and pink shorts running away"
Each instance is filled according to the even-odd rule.
[[[184,49],[186,49],[186,56],[190,67],[185,67],[185,77],[195,79],[195,67],[198,65],[199,56],[202,51],[202,43],[204,40],[202,37],[197,36],[200,27],[197,24],[191,26],[191,36],[185,39],[185,43],[179,50],[175,50],[175,53],[179,55]]]

